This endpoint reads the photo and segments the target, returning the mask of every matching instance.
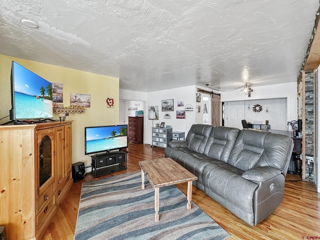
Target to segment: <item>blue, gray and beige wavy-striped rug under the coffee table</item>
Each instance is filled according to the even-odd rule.
[[[145,181],[147,183],[147,179]],[[185,183],[186,184],[186,183]],[[141,189],[132,172],[82,183],[74,239],[225,239],[229,234],[174,185],[160,188],[159,221],[154,189]]]

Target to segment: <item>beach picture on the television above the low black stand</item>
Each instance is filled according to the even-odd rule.
[[[86,128],[86,152],[90,153],[126,147],[126,135],[126,125]]]

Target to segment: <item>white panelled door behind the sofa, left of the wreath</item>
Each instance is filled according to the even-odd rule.
[[[244,118],[244,101],[227,101],[224,104],[224,112],[226,113],[225,126],[236,127],[242,129],[241,120]]]

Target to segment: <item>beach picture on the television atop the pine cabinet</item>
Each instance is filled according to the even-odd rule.
[[[15,118],[51,118],[52,84],[23,66],[13,64]]]

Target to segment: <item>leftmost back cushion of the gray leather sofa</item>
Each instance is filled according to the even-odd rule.
[[[210,125],[193,124],[185,138],[187,147],[192,151],[203,153],[211,129]]]

